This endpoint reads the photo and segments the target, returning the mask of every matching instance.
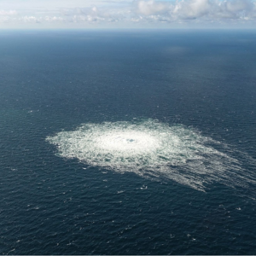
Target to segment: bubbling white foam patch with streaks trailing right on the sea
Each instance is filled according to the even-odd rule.
[[[239,174],[238,160],[216,149],[224,145],[183,125],[169,126],[152,119],[84,124],[76,131],[47,137],[47,141],[65,158],[114,172],[169,178],[198,190],[214,182],[229,186],[255,183],[250,175]]]

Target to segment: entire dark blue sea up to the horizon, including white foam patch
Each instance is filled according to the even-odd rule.
[[[1,255],[256,255],[255,31],[0,32]]]

